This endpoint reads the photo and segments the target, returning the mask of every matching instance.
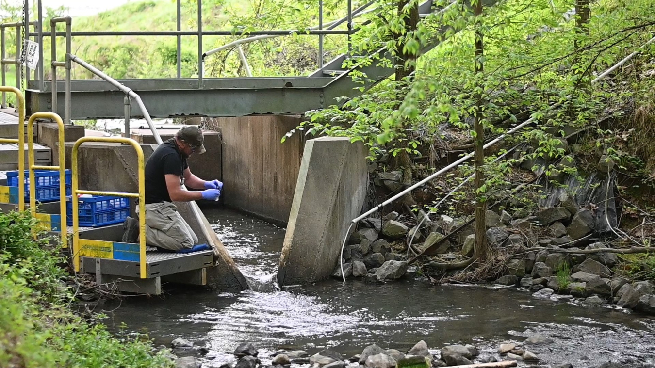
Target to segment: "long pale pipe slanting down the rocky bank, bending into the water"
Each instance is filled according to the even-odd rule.
[[[646,43],[645,43],[644,45],[642,45],[640,48],[644,48],[645,46],[648,46],[650,43],[653,43],[653,42],[655,42],[655,37],[653,37],[652,39],[650,39],[648,42],[646,42]],[[591,83],[593,84],[593,83],[597,83],[598,81],[601,81],[603,78],[607,77],[607,75],[609,75],[610,73],[612,73],[612,71],[616,70],[616,69],[617,69],[618,67],[620,67],[621,65],[626,64],[627,61],[631,60],[631,58],[634,58],[634,57],[635,57],[637,54],[639,54],[640,52],[641,52],[641,50],[637,50],[637,51],[635,51],[635,52],[629,54],[628,56],[626,56],[625,58],[623,58],[623,60],[621,60],[620,62],[614,64],[612,67],[610,67],[609,69],[607,69],[606,71],[604,71],[603,73],[601,73],[598,77],[596,77],[595,79],[593,79],[593,81],[591,81]],[[570,97],[571,97],[571,96],[567,96],[567,98],[570,98]],[[550,110],[550,109],[554,109],[555,107],[558,107],[559,105],[561,105],[560,102],[558,102],[558,103],[553,103],[553,105],[550,105],[550,107],[549,107],[548,109],[549,109],[549,110]],[[531,122],[534,122],[534,120],[536,120],[536,119],[534,119],[534,117],[531,117],[530,119],[525,120],[525,121],[522,122],[521,124],[518,124],[518,125],[515,126],[514,128],[512,128],[512,129],[508,130],[507,132],[501,134],[500,136],[498,136],[498,138],[493,139],[493,141],[490,141],[489,143],[483,145],[482,148],[483,148],[483,149],[487,149],[487,148],[491,147],[492,145],[495,145],[495,144],[498,143],[499,141],[502,141],[502,139],[505,139],[505,137],[506,137],[508,134],[513,134],[513,133],[515,133],[515,132],[518,132],[519,130],[523,129],[524,126],[527,126],[527,125],[530,124]],[[359,217],[356,217],[356,218],[352,219],[352,220],[350,221],[350,227],[348,227],[348,231],[346,231],[345,239],[343,240],[343,245],[341,246],[341,258],[339,259],[339,263],[341,264],[341,276],[343,276],[343,281],[344,281],[344,282],[346,281],[346,276],[345,276],[345,274],[343,274],[343,249],[344,249],[345,246],[346,246],[346,240],[348,239],[348,236],[350,235],[350,230],[352,230],[352,227],[353,227],[354,225],[356,225],[356,223],[362,221],[362,219],[365,219],[366,217],[369,217],[369,215],[371,215],[371,214],[373,214],[373,213],[379,211],[379,210],[380,210],[381,208],[383,208],[384,206],[387,206],[388,204],[390,204],[390,203],[392,203],[392,202],[395,202],[396,200],[402,198],[403,196],[405,196],[405,194],[407,194],[407,193],[413,191],[414,189],[417,189],[418,187],[420,187],[421,185],[423,185],[423,184],[427,183],[428,181],[434,179],[435,177],[438,177],[439,175],[441,175],[441,174],[447,172],[448,170],[451,170],[452,168],[455,168],[455,167],[459,166],[460,164],[462,164],[462,162],[465,162],[466,160],[468,160],[469,158],[471,158],[471,157],[473,157],[473,156],[474,156],[474,152],[472,152],[472,153],[468,153],[467,155],[463,156],[463,157],[460,158],[459,160],[453,162],[452,164],[449,164],[449,165],[446,166],[445,168],[442,168],[442,169],[439,170],[438,172],[436,172],[436,173],[434,173],[434,174],[432,174],[432,175],[426,177],[425,179],[422,179],[421,181],[419,181],[418,183],[412,185],[411,187],[408,187],[408,188],[405,189],[404,191],[402,191],[402,192],[396,194],[395,196],[392,196],[392,197],[389,198],[388,200],[385,200],[385,201],[382,202],[381,204],[379,204],[379,205],[377,205],[377,206],[371,208],[371,210],[368,210],[368,211],[367,211],[366,213],[364,213],[363,215],[360,215]],[[611,227],[611,226],[610,226],[610,227]]]

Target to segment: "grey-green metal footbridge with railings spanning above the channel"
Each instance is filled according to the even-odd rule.
[[[28,0],[26,0],[28,3]],[[202,1],[198,2],[198,18],[202,18]],[[350,37],[354,33],[352,29],[352,19],[362,16],[367,12],[373,12],[375,9],[367,10],[367,7],[373,5],[375,1],[363,5],[362,7],[352,10],[352,1],[348,1],[348,16],[341,20],[327,23],[325,26],[320,24],[318,27],[310,28],[305,31],[287,30],[287,31],[257,31],[249,33],[250,37],[235,41],[237,51],[240,45],[247,42],[254,42],[258,39],[282,37],[293,32],[298,34],[324,35],[343,34]],[[28,4],[29,6],[29,4]],[[178,0],[179,6],[179,0]],[[455,6],[451,3],[449,7]],[[38,1],[39,14],[41,14],[41,1]],[[428,14],[436,11],[444,11],[436,6],[436,1],[427,0],[421,3],[419,12],[424,18]],[[179,8],[178,8],[179,16]],[[322,19],[322,14],[320,16]],[[61,20],[60,20],[61,21]],[[28,33],[34,37],[35,41],[44,40],[47,34],[43,33],[41,26],[43,19],[34,22],[37,31]],[[67,72],[70,71],[71,64],[78,62],[79,58],[70,53],[70,39],[75,36],[102,36],[102,35],[187,35],[193,34],[198,36],[198,69],[202,71],[204,58],[217,52],[217,50],[227,50],[225,45],[219,49],[202,52],[202,35],[231,35],[226,31],[203,31],[198,26],[197,32],[191,31],[134,31],[134,32],[115,32],[115,31],[71,31],[71,20],[67,20],[69,26],[66,32],[53,32],[51,39],[57,36],[64,36],[67,39],[67,60],[66,62],[53,62],[54,67],[65,67]],[[346,22],[348,29],[338,31],[334,28]],[[53,23],[54,24],[54,23]],[[327,28],[325,28],[327,26]],[[441,29],[442,32],[446,28]],[[55,43],[52,44],[56,47]],[[322,45],[322,43],[320,43]],[[424,47],[422,52],[428,52],[434,48],[437,43]],[[178,37],[179,46],[179,37]],[[178,47],[179,52],[179,47]],[[53,54],[56,53],[56,50]],[[242,52],[239,52],[244,65],[247,60]],[[322,56],[322,50],[320,50]],[[201,72],[196,78],[176,78],[176,79],[130,79],[119,80],[127,88],[137,92],[147,107],[150,117],[168,118],[179,116],[207,116],[207,117],[234,117],[253,114],[298,114],[305,113],[310,109],[321,109],[336,103],[335,98],[341,96],[354,97],[361,94],[360,88],[371,88],[375,84],[383,81],[394,73],[392,67],[382,65],[378,62],[379,57],[388,57],[386,49],[381,48],[371,55],[354,55],[348,56],[343,54],[327,62],[311,73],[307,77],[237,77],[237,78],[204,78]],[[362,63],[350,69],[344,69],[343,65],[348,58],[366,58],[371,62]],[[77,60],[76,60],[77,59]],[[43,58],[41,58],[43,60]],[[9,60],[8,62],[10,62]],[[179,55],[178,55],[179,62]],[[78,62],[78,64],[81,64]],[[322,61],[321,61],[322,64]],[[81,64],[82,65],[82,64]],[[83,65],[84,66],[84,65]],[[246,73],[250,74],[248,68]],[[178,64],[179,71],[179,64]],[[354,71],[367,75],[368,81],[364,84],[355,83],[350,78]],[[29,73],[27,73],[29,75]],[[70,73],[67,73],[70,75]],[[66,114],[67,122],[69,119],[121,119],[126,117],[126,101],[124,91],[119,90],[111,84],[100,80],[72,80],[58,81],[55,85],[55,93],[52,92],[52,82],[43,79],[43,65],[39,65],[38,73],[35,80],[27,81],[26,100],[27,114],[51,111],[54,107],[55,113],[65,115],[65,103],[61,101],[71,101],[69,114]],[[179,75],[179,74],[178,74]],[[66,96],[68,94],[68,96]],[[56,96],[56,98],[54,98]],[[54,99],[53,99],[54,98]],[[60,103],[57,103],[60,101]],[[54,102],[54,103],[53,103]],[[128,106],[129,117],[141,118],[143,113],[140,109],[134,109]]]

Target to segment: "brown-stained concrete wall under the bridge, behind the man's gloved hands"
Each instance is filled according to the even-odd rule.
[[[257,115],[211,119],[223,136],[223,203],[286,225],[305,145],[303,134],[280,139],[302,117]]]

